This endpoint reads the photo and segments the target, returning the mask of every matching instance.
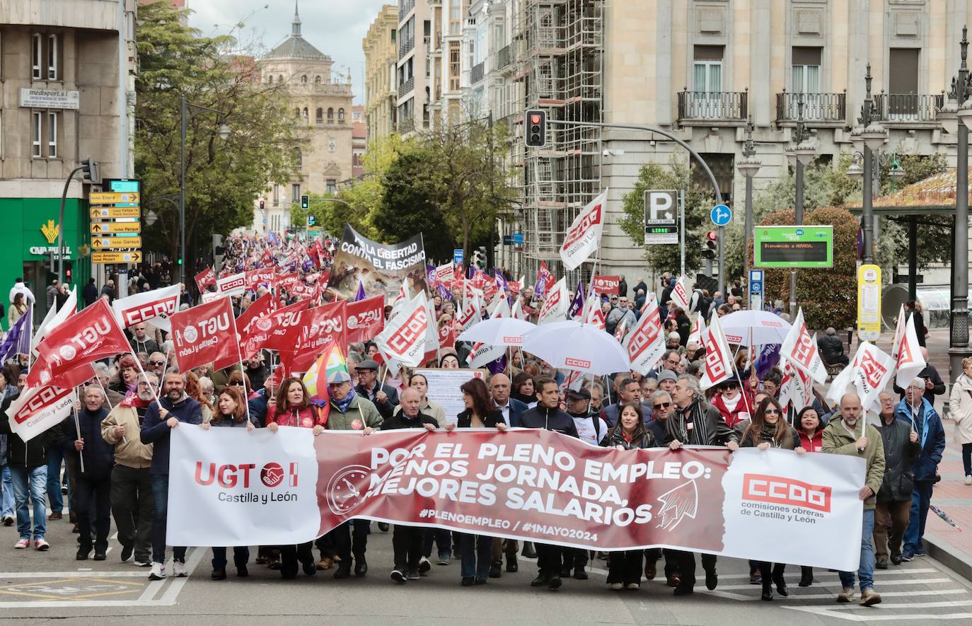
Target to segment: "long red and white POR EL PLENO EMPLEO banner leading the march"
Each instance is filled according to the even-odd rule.
[[[307,468],[311,446],[316,473]],[[856,457],[778,449],[617,450],[533,429],[315,437],[309,429],[189,427],[172,433],[167,539],[298,543],[364,518],[853,571],[864,467]],[[308,528],[315,517],[317,528]],[[199,519],[209,521],[204,529]]]

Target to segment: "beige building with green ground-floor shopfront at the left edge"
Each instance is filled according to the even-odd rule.
[[[0,7],[0,284],[23,277],[39,298],[38,323],[47,312],[44,292],[57,278],[52,261],[63,258],[72,285],[92,275],[90,186],[80,176],[67,187],[58,223],[68,174],[85,158],[98,161],[104,178],[132,172],[137,3],[19,0]]]

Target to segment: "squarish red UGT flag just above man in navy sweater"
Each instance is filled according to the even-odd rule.
[[[229,358],[239,361],[236,321],[228,297],[193,306],[170,319],[176,361],[181,370]]]

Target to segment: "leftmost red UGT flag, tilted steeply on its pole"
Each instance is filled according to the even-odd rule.
[[[74,387],[78,383],[67,378],[77,379],[81,373],[74,371],[70,377],[66,374],[85,369],[92,361],[130,352],[131,347],[108,302],[98,299],[48,333],[37,346],[37,351],[41,356],[27,374],[27,387]],[[90,370],[90,366],[87,366],[85,371]],[[87,375],[81,380],[89,377]]]

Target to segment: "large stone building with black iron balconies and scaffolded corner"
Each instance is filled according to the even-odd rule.
[[[736,163],[746,121],[755,125],[762,161],[757,191],[788,166],[801,101],[818,161],[852,154],[870,63],[878,115],[889,131],[882,152],[941,152],[955,164],[956,138],[938,112],[958,68],[962,25],[972,21],[969,0],[495,0],[473,3],[477,19],[494,6],[512,22],[509,49],[473,53],[485,65],[470,72],[469,99],[500,87],[491,79],[512,67],[517,88],[506,86],[506,106],[520,137],[522,113],[535,107],[552,120],[658,126],[702,154],[723,198],[739,206],[745,178]],[[684,159],[685,151],[642,131],[549,124],[547,133],[545,149],[525,150],[518,140],[511,156],[523,190],[518,221],[504,226],[524,231],[514,273],[531,275],[546,261],[561,275],[557,250],[566,227],[603,189],[608,227],[599,272],[629,279],[643,272],[638,247],[616,226],[621,199],[642,164]],[[573,278],[589,271],[587,263]]]

